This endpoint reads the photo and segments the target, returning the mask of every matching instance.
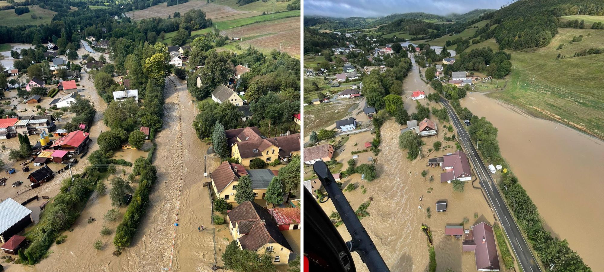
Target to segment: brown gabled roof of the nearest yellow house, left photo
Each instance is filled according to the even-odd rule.
[[[258,204],[245,201],[228,212],[231,224],[239,225],[239,244],[243,249],[256,251],[268,243],[277,243],[293,251],[271,215]],[[277,249],[278,250],[278,249]]]

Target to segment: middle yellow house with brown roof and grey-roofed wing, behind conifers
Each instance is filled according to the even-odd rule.
[[[252,180],[254,199],[263,199],[266,189],[271,180],[278,173],[277,170],[269,169],[245,169],[241,164],[223,161],[220,166],[210,173],[212,189],[217,198],[225,199],[226,202],[235,202],[235,193],[240,177],[249,175]]]

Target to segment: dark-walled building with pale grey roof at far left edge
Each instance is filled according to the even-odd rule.
[[[8,239],[21,232],[31,222],[33,219],[30,209],[12,198],[0,202],[0,241],[2,243],[6,243]]]

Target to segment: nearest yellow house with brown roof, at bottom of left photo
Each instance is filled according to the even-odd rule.
[[[293,250],[266,209],[245,201],[228,212],[228,221],[231,236],[241,249],[268,252],[273,264],[288,264]]]

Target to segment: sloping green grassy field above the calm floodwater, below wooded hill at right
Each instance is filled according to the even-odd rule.
[[[534,53],[510,51],[515,71],[504,91],[490,96],[604,138],[604,54],[572,57],[576,51],[602,47],[604,31],[574,28],[558,31],[550,45]],[[582,42],[568,44],[579,34],[583,35]],[[559,44],[565,44],[564,48],[557,50]],[[557,54],[567,57],[557,59]]]

